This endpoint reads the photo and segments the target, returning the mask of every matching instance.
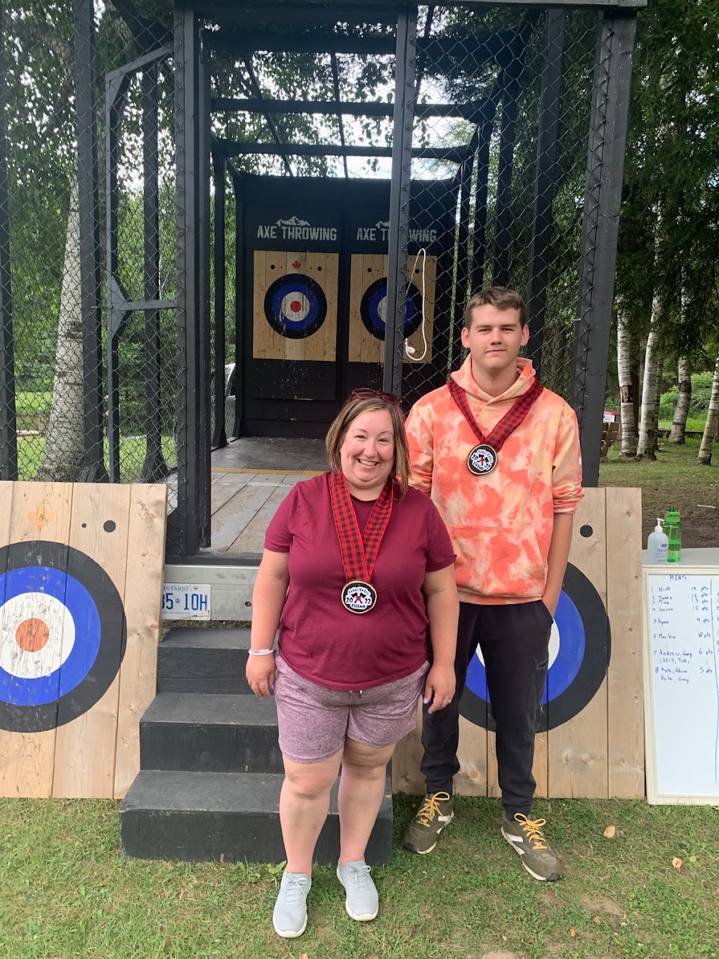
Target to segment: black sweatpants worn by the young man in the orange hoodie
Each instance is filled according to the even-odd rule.
[[[536,786],[532,776],[535,721],[545,690],[551,625],[542,600],[503,606],[459,604],[454,697],[437,713],[424,708],[421,769],[428,793],[452,795],[452,777],[459,771],[459,700],[478,644],[497,727],[502,807],[509,818],[515,812],[529,813]]]

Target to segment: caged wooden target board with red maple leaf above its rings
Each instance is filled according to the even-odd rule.
[[[253,359],[335,361],[338,264],[337,253],[254,251]]]

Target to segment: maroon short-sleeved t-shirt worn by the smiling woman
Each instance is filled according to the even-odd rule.
[[[451,566],[447,528],[429,497],[415,489],[395,501],[372,585],[377,603],[350,613],[332,515],[329,473],[298,482],[275,513],[265,549],[290,553],[290,588],[280,622],[280,652],[300,676],[335,690],[369,690],[404,679],[427,658],[425,573]],[[372,503],[352,497],[359,528]]]

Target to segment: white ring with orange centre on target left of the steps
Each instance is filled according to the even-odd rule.
[[[39,679],[62,666],[75,644],[75,620],[56,596],[23,593],[0,607],[0,667]]]

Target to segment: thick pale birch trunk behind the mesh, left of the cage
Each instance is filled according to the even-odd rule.
[[[75,173],[70,186],[67,214],[53,403],[42,461],[35,479],[73,482],[80,477],[83,456],[80,211],[78,177]]]

